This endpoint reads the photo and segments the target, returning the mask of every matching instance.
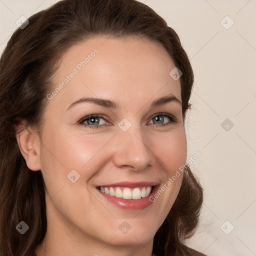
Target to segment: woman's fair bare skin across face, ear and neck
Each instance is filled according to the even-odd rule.
[[[52,99],[43,113],[42,132],[28,126],[17,141],[27,166],[41,170],[45,182],[47,232],[36,248],[44,255],[151,255],[153,237],[179,191],[182,174],[149,207],[121,209],[99,196],[96,186],[120,181],[156,181],[163,185],[186,161],[186,136],[181,104],[150,107],[167,94],[181,101],[180,81],[169,75],[174,63],[161,44],[146,38],[97,36],[65,52],[53,89],[84,57],[99,52]],[[119,108],[93,103],[68,106],[81,97],[114,100]],[[153,115],[170,113],[153,123]],[[104,114],[99,128],[77,122]],[[161,115],[160,115],[161,116]],[[118,123],[126,118],[127,131]],[[88,122],[89,121],[89,122]],[[75,169],[80,178],[67,178]],[[118,226],[126,221],[130,230]]]

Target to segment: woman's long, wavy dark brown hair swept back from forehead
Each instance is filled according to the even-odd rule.
[[[47,222],[41,171],[26,166],[16,141],[21,119],[40,131],[42,113],[61,55],[93,35],[136,35],[161,43],[180,77],[185,117],[193,71],[176,32],[147,5],[135,0],[62,0],[28,18],[17,28],[0,58],[0,255],[34,255]],[[184,242],[195,230],[203,192],[189,167],[181,188],[153,241],[157,256],[202,255]],[[21,235],[23,220],[29,231]]]

